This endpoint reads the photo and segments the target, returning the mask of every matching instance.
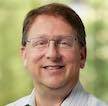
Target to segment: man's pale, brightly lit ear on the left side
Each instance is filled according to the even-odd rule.
[[[26,49],[26,47],[24,47],[24,46],[21,47],[20,54],[21,54],[23,64],[26,67],[27,66],[27,49]]]

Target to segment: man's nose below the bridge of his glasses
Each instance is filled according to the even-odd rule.
[[[54,41],[50,41],[49,46],[46,50],[45,54],[46,59],[49,59],[51,61],[59,61],[61,58],[60,52],[55,45]]]

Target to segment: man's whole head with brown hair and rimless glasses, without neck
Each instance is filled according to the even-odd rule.
[[[71,88],[86,61],[83,23],[62,4],[34,9],[24,21],[21,51],[36,86]]]

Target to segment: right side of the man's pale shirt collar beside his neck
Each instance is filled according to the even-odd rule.
[[[70,95],[64,100],[61,106],[86,106],[88,100],[88,93],[85,92],[80,81],[71,91]]]

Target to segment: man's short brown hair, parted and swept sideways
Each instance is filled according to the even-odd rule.
[[[26,46],[27,33],[32,23],[39,15],[43,14],[63,17],[63,19],[76,30],[80,46],[86,47],[86,33],[80,17],[70,7],[60,3],[47,4],[28,12],[23,23],[22,46]]]

